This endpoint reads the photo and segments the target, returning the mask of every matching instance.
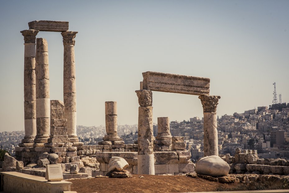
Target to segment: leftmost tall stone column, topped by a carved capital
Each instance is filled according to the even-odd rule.
[[[32,147],[36,135],[35,40],[39,30],[23,30],[24,36],[24,130],[19,147]]]

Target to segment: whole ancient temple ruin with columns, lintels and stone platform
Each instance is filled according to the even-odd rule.
[[[105,102],[106,135],[98,145],[83,145],[76,134],[76,76],[74,45],[78,32],[68,31],[66,21],[32,21],[24,36],[24,111],[25,137],[16,147],[16,159],[23,169],[17,171],[38,176],[45,173],[31,170],[36,163],[62,164],[62,171],[106,175],[112,157],[124,158],[132,174],[181,174],[194,172],[184,138],[172,136],[168,117],[158,117],[158,134],[153,136],[152,91],[198,95],[204,109],[204,155],[218,156],[216,108],[220,96],[209,96],[209,78],[177,74],[145,72],[140,90],[138,140],[125,144],[117,134],[117,102]],[[50,100],[48,42],[37,38],[39,31],[61,32],[64,46],[63,102]],[[49,157],[49,155],[51,155]],[[52,157],[56,158],[55,155]],[[96,161],[97,160],[97,161]],[[20,162],[19,162],[20,163]],[[30,166],[30,167],[29,167]],[[26,168],[26,169],[25,169]],[[78,168],[78,169],[77,169]],[[99,168],[99,170],[97,170]],[[78,171],[79,170],[79,171]],[[72,175],[72,174],[71,174]]]

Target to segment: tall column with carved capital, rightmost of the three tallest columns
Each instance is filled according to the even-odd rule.
[[[63,101],[65,119],[67,119],[67,135],[71,142],[78,142],[76,134],[76,80],[74,45],[77,31],[64,31],[63,37]]]

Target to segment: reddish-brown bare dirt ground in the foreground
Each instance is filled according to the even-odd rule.
[[[236,183],[221,184],[202,178],[186,176],[132,175],[132,178],[97,177],[90,179],[67,180],[72,182],[71,191],[77,193],[102,192],[202,192],[217,191],[221,187],[233,187]],[[224,188],[225,188],[224,187]]]

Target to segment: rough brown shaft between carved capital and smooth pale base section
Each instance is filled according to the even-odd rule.
[[[154,138],[153,138],[153,107],[139,107],[138,121],[138,153],[153,154]]]

